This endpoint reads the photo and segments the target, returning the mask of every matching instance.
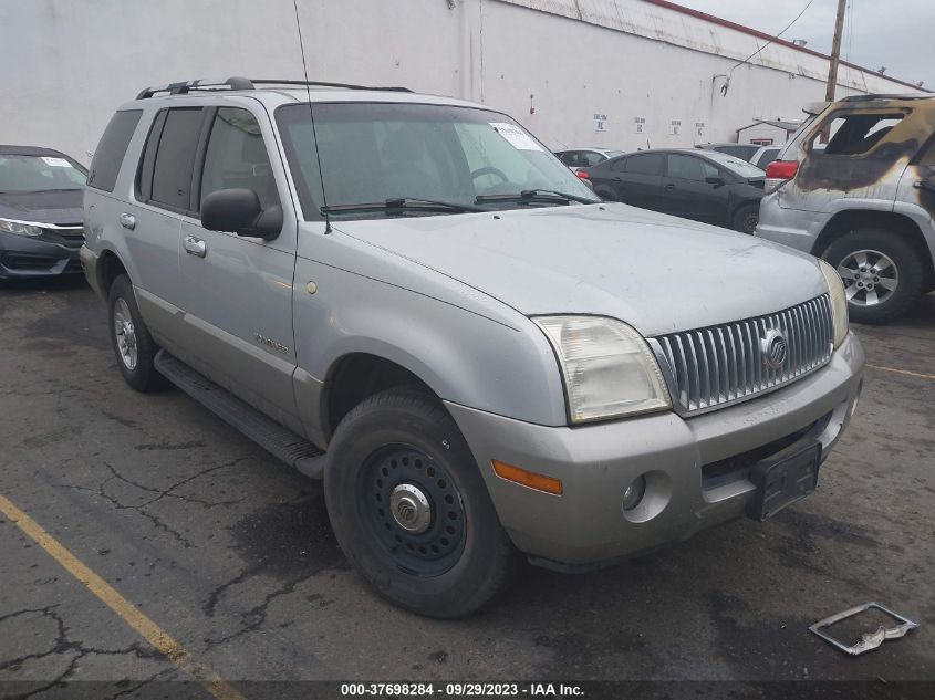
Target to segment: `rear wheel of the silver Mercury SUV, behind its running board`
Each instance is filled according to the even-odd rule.
[[[153,364],[159,346],[149,335],[149,330],[139,315],[133,284],[127,275],[120,275],[111,285],[107,310],[111,343],[124,380],[137,391],[148,393],[164,388],[168,382]]]

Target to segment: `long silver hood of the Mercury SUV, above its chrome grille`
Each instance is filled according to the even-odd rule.
[[[332,221],[524,315],[596,314],[651,337],[827,292],[814,258],[626,205]]]

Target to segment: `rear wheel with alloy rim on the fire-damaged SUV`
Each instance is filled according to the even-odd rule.
[[[922,295],[918,253],[897,233],[859,229],[835,240],[823,255],[844,280],[848,314],[858,323],[889,323]]]

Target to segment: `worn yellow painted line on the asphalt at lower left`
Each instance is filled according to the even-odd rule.
[[[29,535],[35,543],[55,560],[80,583],[87,586],[97,598],[121,616],[153,647],[165,654],[178,668],[196,678],[205,689],[218,700],[246,700],[231,685],[224,681],[212,670],[197,661],[178,641],[139,608],[124,598],[111,585],[89,568],[80,558],[69,552],[58,540],[50,535],[32,518],[23,513],[7,498],[0,495],[0,512]]]

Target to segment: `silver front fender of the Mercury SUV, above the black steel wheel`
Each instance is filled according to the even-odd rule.
[[[561,375],[546,336],[505,307],[495,320],[408,289],[299,259],[295,353],[301,372],[323,384],[351,353],[408,369],[439,398],[539,425],[565,425]],[[298,286],[298,285],[297,285]],[[301,290],[301,288],[298,288]]]

